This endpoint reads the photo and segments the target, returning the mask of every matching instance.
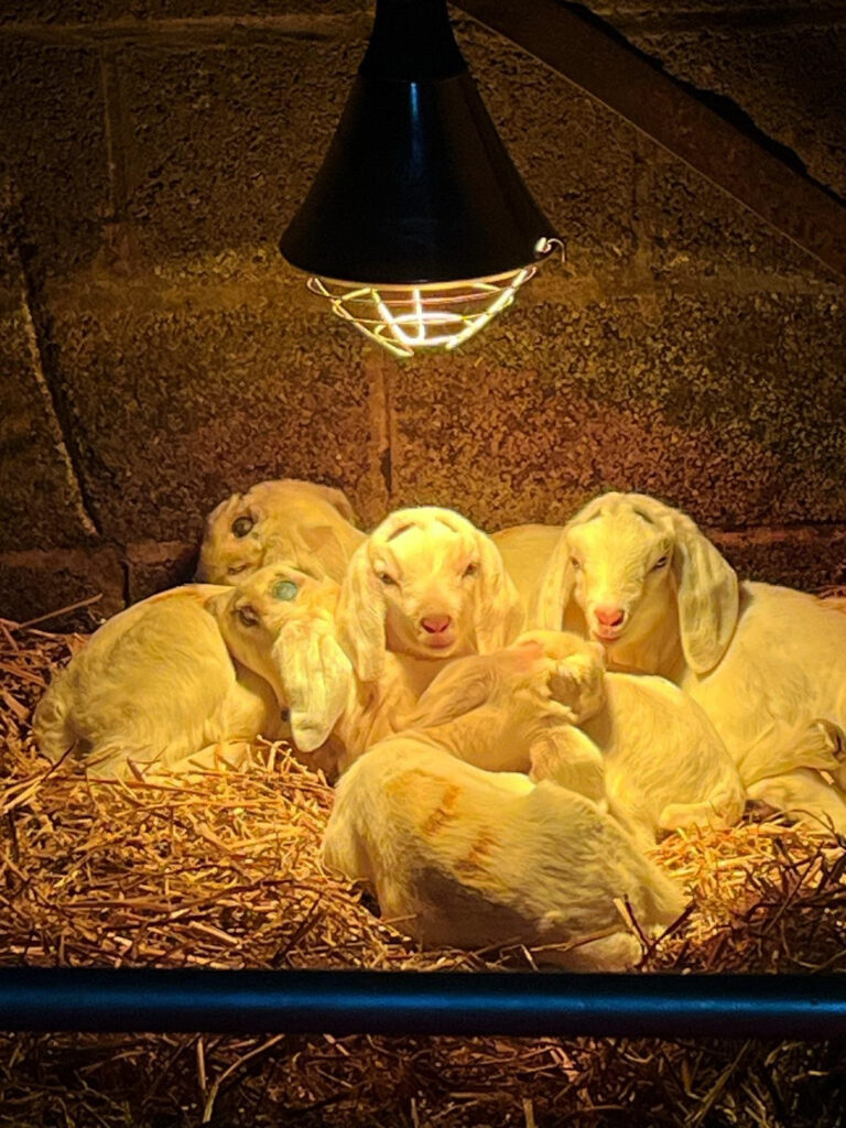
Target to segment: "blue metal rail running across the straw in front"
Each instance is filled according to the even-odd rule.
[[[846,1036],[846,975],[1,968],[0,1029]]]

